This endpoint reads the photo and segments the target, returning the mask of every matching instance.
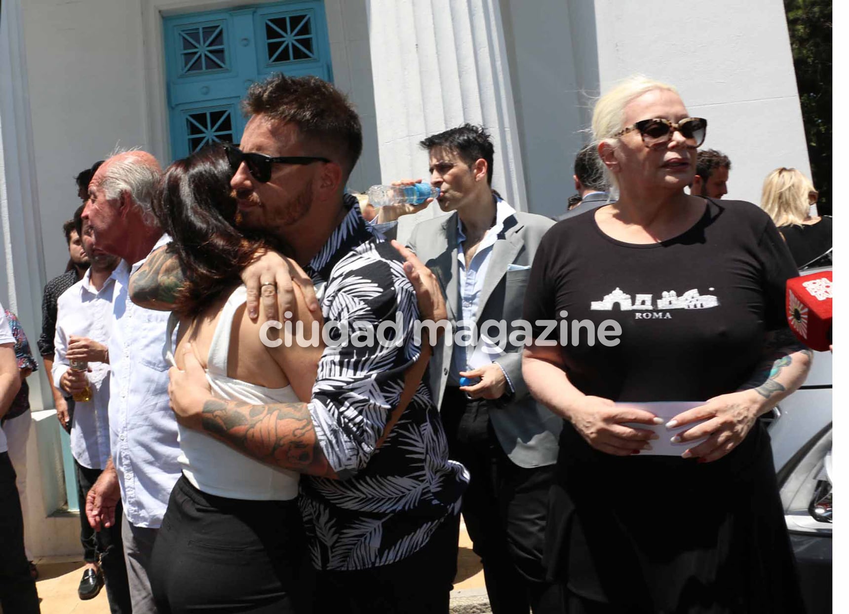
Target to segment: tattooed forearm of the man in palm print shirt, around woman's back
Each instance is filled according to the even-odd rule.
[[[210,399],[201,424],[206,433],[270,465],[331,477],[306,403],[250,405]]]

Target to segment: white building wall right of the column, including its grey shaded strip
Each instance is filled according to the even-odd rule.
[[[705,148],[732,160],[728,196],[760,201],[777,166],[809,173],[781,0],[501,0],[528,207],[556,215],[574,193],[593,98],[643,73],[709,120]]]

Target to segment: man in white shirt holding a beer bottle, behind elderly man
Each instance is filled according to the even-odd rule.
[[[95,533],[84,513],[88,490],[106,468],[110,458],[109,443],[109,332],[107,323],[112,313],[115,277],[112,275],[120,259],[94,247],[92,227],[75,216],[77,232],[82,237],[91,266],[79,282],[59,297],[56,337],[53,342],[53,382],[65,394],[77,394],[88,388],[91,400],[76,401],[70,429],[70,450],[76,467],[76,486],[80,499],[81,541],[86,561],[77,593],[82,600],[93,599],[100,592],[106,576],[106,593],[113,614],[129,613],[130,592],[127,587],[127,565],[121,544],[119,525]],[[89,371],[70,368],[71,360],[84,360]],[[121,505],[115,509],[121,518]]]

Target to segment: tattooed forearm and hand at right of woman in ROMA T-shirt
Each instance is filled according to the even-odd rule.
[[[666,423],[672,428],[706,420],[678,437],[679,441],[687,442],[707,436],[704,443],[685,450],[683,457],[710,462],[727,455],[743,441],[757,416],[772,410],[801,386],[811,360],[811,350],[796,341],[789,329],[767,332],[764,360],[737,392],[708,399],[705,405],[684,411]]]

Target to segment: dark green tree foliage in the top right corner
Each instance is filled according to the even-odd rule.
[[[784,0],[818,211],[831,215],[831,2]]]

